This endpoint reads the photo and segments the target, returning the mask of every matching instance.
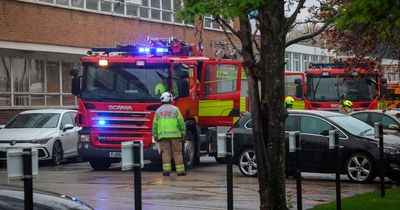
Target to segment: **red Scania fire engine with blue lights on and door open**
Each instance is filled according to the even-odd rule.
[[[246,104],[241,98],[242,64],[200,56],[175,38],[148,39],[149,46],[94,48],[83,57],[83,73],[71,71],[79,96],[76,121],[82,127],[78,153],[95,170],[121,160],[121,142],[142,140],[145,159],[159,160],[152,121],[160,94],[171,92],[187,127],[184,162],[214,156],[216,126],[232,125]]]

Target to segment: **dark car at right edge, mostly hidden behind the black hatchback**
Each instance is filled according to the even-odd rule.
[[[365,110],[353,112],[350,115],[369,124],[370,126],[374,126],[375,122],[381,122],[383,132],[400,136],[399,110],[388,110],[385,112],[382,110]]]

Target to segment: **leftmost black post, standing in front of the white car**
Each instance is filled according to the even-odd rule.
[[[24,148],[22,154],[24,171],[24,206],[25,210],[33,210],[32,184],[32,148]]]

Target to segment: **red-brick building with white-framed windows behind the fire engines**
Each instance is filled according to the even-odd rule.
[[[203,24],[176,20],[180,1],[120,2],[0,0],[0,124],[26,109],[76,108],[69,72],[91,47],[175,36],[189,43],[202,39],[205,55],[215,57],[213,46],[227,41],[210,17]],[[304,71],[309,61],[327,60],[326,52],[308,47],[303,61],[303,48],[287,52],[287,70]]]

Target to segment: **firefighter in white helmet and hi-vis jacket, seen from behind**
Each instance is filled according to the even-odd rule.
[[[173,96],[170,92],[164,92],[160,100],[163,105],[154,115],[152,134],[160,145],[163,176],[169,176],[171,173],[171,155],[177,175],[186,176],[182,157],[182,139],[186,135],[185,122],[179,109],[171,104]]]

